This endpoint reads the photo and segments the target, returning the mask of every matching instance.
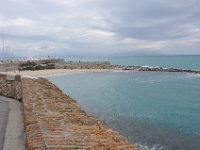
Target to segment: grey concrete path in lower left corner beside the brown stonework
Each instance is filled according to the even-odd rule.
[[[0,96],[0,149],[24,150],[21,103]]]

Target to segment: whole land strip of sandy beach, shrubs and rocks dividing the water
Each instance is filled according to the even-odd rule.
[[[50,70],[50,71],[49,71]],[[22,62],[13,62],[9,64],[0,64],[0,72],[9,74],[21,74],[26,76],[42,76],[49,74],[71,74],[85,72],[104,72],[110,70],[135,70],[135,71],[157,71],[157,72],[181,72],[200,74],[198,69],[183,68],[164,68],[162,66],[137,66],[137,65],[114,65],[111,62],[73,62],[60,59],[46,60],[28,60]]]

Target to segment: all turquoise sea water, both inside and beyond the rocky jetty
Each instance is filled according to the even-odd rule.
[[[200,70],[200,56],[67,58]],[[107,71],[47,76],[139,150],[200,150],[200,75]]]

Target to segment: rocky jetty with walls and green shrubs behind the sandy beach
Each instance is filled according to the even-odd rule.
[[[187,70],[176,68],[162,68],[149,66],[120,66],[112,65],[110,62],[73,62],[64,59],[45,59],[34,61],[19,61],[0,64],[0,71],[13,70],[47,70],[47,69],[114,69],[114,70],[137,70],[137,71],[159,71],[159,72],[185,72],[200,74],[200,70]]]

